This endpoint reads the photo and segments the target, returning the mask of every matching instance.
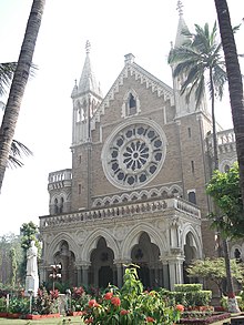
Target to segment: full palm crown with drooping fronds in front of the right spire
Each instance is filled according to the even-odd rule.
[[[225,63],[222,54],[222,44],[217,42],[217,23],[210,28],[207,23],[202,28],[195,24],[195,32],[183,32],[187,42],[171,50],[169,63],[173,67],[173,77],[181,78],[181,94],[185,94],[186,102],[194,93],[196,106],[201,104],[204,97],[205,83],[209,87],[210,95],[215,94],[222,99],[223,87],[226,82]],[[207,80],[207,71],[212,71]]]

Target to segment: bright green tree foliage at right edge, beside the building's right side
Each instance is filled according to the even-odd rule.
[[[244,211],[237,163],[226,173],[215,171],[206,186],[206,193],[220,209],[220,214],[209,215],[213,227],[225,237],[244,238]]]

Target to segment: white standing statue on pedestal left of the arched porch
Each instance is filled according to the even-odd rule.
[[[30,247],[27,251],[26,295],[35,296],[38,288],[38,247],[35,246],[34,241],[32,241]]]

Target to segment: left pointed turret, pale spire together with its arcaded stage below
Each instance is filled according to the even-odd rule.
[[[85,44],[85,61],[79,83],[74,84],[71,98],[73,100],[73,139],[78,144],[91,139],[91,120],[102,101],[102,92],[96,83],[90,61],[91,44]]]

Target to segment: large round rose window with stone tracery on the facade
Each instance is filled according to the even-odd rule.
[[[105,145],[103,169],[118,187],[140,187],[160,171],[165,141],[154,125],[136,124],[120,130]]]

